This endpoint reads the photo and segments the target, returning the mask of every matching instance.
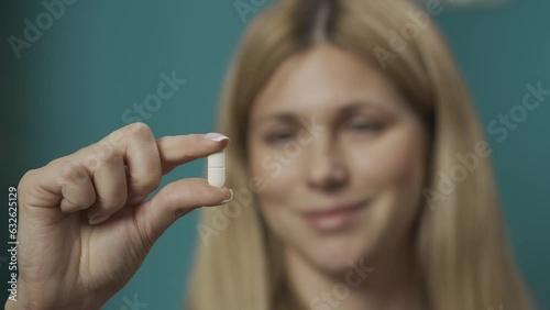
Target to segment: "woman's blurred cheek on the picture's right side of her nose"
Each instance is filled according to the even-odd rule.
[[[361,163],[354,171],[355,184],[373,199],[365,218],[365,232],[373,235],[373,242],[400,242],[411,228],[424,185],[424,137],[422,131],[410,128],[395,131],[365,146],[362,157],[355,155]]]

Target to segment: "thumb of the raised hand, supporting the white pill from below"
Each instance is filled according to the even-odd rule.
[[[139,206],[134,212],[142,239],[151,245],[177,219],[204,206],[219,206],[233,199],[229,188],[210,186],[202,178],[187,178],[163,187],[151,200]]]

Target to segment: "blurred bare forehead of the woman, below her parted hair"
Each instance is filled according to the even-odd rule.
[[[403,109],[394,84],[352,53],[317,46],[286,59],[258,93],[252,118],[274,112],[332,111],[350,102]]]

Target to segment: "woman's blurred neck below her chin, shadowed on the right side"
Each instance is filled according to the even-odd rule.
[[[342,273],[330,273],[287,248],[289,286],[305,309],[427,309],[414,246],[384,253],[350,264]]]

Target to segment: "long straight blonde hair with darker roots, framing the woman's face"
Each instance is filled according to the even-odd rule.
[[[452,55],[422,12],[398,0],[283,0],[254,20],[232,63],[219,115],[219,130],[232,140],[227,186],[235,200],[202,210],[189,309],[299,308],[280,244],[257,211],[248,165],[251,104],[288,57],[323,42],[381,66],[431,131],[428,189],[438,188],[438,173],[457,166],[457,154],[484,141]],[[405,48],[389,43],[399,33],[410,38],[397,42]],[[438,310],[532,309],[506,242],[491,162],[479,160],[452,192],[421,202],[416,246],[429,303]]]

